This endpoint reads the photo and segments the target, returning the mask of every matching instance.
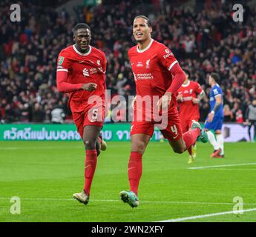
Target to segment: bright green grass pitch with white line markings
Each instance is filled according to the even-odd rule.
[[[130,142],[108,142],[85,206],[72,198],[84,185],[82,141],[1,141],[0,221],[256,221],[256,144],[225,146],[226,158],[212,159],[211,145],[197,144],[197,160],[187,164],[188,153],[150,142],[140,206],[132,209],[119,200],[128,190]],[[10,213],[12,197],[20,214]],[[241,198],[244,212],[234,214]]]

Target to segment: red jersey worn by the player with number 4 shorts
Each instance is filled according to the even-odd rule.
[[[174,64],[177,64],[171,50],[154,39],[144,50],[140,50],[138,45],[128,50],[128,57],[131,62],[131,69],[134,73],[137,96],[163,96],[171,86],[172,75],[170,73]],[[134,104],[135,110],[137,109]],[[153,100],[152,103],[153,105]],[[169,111],[176,107],[176,96],[173,95],[172,104]],[[145,108],[143,107],[143,113]]]

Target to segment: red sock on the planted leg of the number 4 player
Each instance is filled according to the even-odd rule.
[[[140,183],[140,177],[142,175],[142,154],[137,152],[131,152],[128,162],[128,178],[130,183],[130,190],[136,195],[138,193],[138,187]]]

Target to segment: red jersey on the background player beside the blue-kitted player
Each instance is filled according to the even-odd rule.
[[[198,120],[200,118],[199,106],[192,102],[192,98],[197,98],[202,91],[200,84],[195,81],[188,81],[187,84],[180,87],[178,94],[183,96],[183,102],[179,104],[181,120]]]

